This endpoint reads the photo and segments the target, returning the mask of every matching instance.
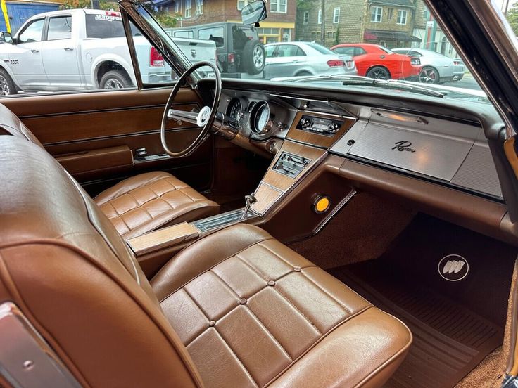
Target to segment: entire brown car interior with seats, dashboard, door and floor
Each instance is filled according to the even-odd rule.
[[[0,386],[500,382],[518,254],[500,115],[194,67],[1,99]]]

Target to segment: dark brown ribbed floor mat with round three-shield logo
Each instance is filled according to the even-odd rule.
[[[438,260],[452,253],[448,244],[469,257],[464,284],[438,274]],[[498,259],[484,257],[486,250],[495,249]],[[505,309],[497,305],[507,304],[515,258],[516,250],[503,243],[420,217],[383,257],[329,272],[412,331],[409,354],[386,388],[448,388],[502,344]],[[491,274],[491,266],[498,267],[498,276]]]

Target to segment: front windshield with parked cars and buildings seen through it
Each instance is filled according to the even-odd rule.
[[[146,7],[173,40],[214,41],[223,78],[379,89],[380,82],[343,82],[367,77],[397,82],[386,93],[404,82],[419,86],[401,88],[405,93],[427,88],[439,92],[428,95],[488,103],[422,0],[270,0],[265,20],[243,25],[241,10],[251,3],[163,0]],[[508,15],[518,14],[512,4]]]

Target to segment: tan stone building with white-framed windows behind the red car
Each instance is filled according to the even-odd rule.
[[[307,0],[298,9],[296,40],[339,43],[376,43],[388,48],[410,46],[421,39],[413,35],[418,0],[326,0],[324,39],[321,38],[320,0]]]

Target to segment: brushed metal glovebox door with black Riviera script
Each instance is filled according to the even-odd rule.
[[[451,181],[474,141],[367,124],[349,155]]]

